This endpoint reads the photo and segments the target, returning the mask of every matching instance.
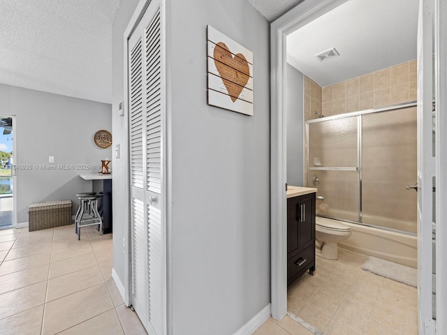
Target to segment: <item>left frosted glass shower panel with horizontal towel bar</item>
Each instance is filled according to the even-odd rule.
[[[307,185],[316,187],[316,214],[360,219],[358,117],[309,122]]]

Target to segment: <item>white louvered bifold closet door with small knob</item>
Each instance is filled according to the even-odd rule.
[[[149,335],[163,335],[161,13],[151,1],[128,44],[132,304]]]

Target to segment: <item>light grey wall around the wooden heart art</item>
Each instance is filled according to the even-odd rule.
[[[245,0],[170,1],[173,334],[233,334],[270,302],[269,23]],[[207,105],[206,27],[254,54],[254,117]]]

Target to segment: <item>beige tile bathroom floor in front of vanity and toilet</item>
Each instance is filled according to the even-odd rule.
[[[343,249],[339,260],[317,256],[315,276],[288,289],[288,311],[325,335],[418,334],[416,288],[363,271],[366,258]]]

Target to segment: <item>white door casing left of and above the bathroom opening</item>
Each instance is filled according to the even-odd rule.
[[[284,87],[286,37],[348,0],[302,1],[270,24],[270,244],[272,317],[287,313],[286,114]]]

